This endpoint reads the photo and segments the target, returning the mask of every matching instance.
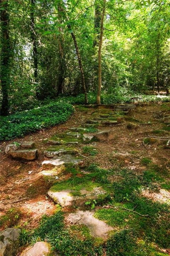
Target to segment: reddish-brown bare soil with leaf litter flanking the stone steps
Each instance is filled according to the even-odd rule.
[[[113,127],[99,127],[99,130],[111,129],[115,133],[114,140],[109,143],[94,142],[93,146],[98,151],[98,154],[91,156],[83,154],[82,148],[84,144],[79,144],[77,148],[84,155],[84,165],[98,164],[101,168],[111,169],[114,167],[127,168],[133,170],[136,174],[140,174],[146,170],[146,166],[141,164],[141,159],[149,158],[154,165],[162,166],[162,169],[170,170],[170,152],[164,148],[165,141],[156,140],[153,144],[143,143],[143,138],[152,136],[168,136],[168,131],[164,130],[165,125],[160,120],[152,118],[152,113],[162,110],[167,115],[170,115],[170,103],[157,105],[137,106],[128,116],[118,125]],[[53,181],[40,174],[43,170],[41,163],[46,159],[43,155],[47,145],[44,139],[50,138],[54,134],[65,132],[71,127],[79,127],[86,119],[92,116],[97,116],[97,112],[105,112],[101,108],[84,108],[75,107],[74,115],[64,124],[40,130],[33,134],[29,134],[23,138],[18,138],[13,141],[24,142],[34,140],[38,148],[38,159],[34,161],[24,161],[12,159],[5,154],[5,147],[8,143],[1,144],[1,174],[0,174],[0,211],[4,215],[8,210],[19,209],[22,215],[19,216],[19,225],[27,226],[28,229],[38,225],[43,214],[52,214],[55,210],[55,204],[47,196],[47,191],[52,186]],[[108,111],[108,110],[107,110]],[[128,119],[129,118],[129,119]],[[147,123],[151,121],[151,125],[140,125],[134,119]],[[135,129],[127,129],[127,124],[131,122],[137,125]],[[153,131],[157,132],[153,132]],[[164,132],[161,132],[164,130]],[[117,153],[121,153],[118,154]],[[118,177],[111,177],[112,181],[116,181]],[[169,182],[169,176],[166,177],[166,182]],[[153,200],[164,200],[167,195],[146,194],[145,196]],[[2,229],[4,226],[2,226]]]

